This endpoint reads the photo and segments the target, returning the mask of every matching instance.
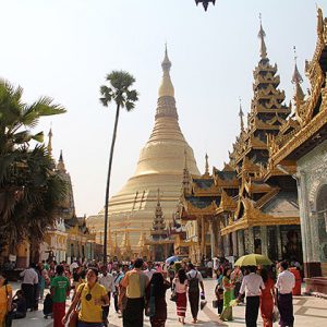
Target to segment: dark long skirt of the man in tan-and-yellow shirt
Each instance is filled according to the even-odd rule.
[[[143,327],[144,298],[128,299],[123,310],[123,327]]]

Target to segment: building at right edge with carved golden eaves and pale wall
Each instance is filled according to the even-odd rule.
[[[317,41],[305,62],[310,81],[305,97],[295,65],[295,110],[269,143],[270,161],[265,174],[276,168],[295,167],[298,182],[304,275],[307,291],[327,294],[327,19],[318,9]],[[325,277],[325,278],[324,278]]]

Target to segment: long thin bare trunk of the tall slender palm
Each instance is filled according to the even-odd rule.
[[[106,186],[106,199],[105,199],[105,238],[104,238],[104,263],[105,264],[107,264],[108,207],[109,207],[110,175],[111,175],[113,149],[114,149],[114,143],[116,143],[116,136],[117,136],[117,126],[118,126],[118,120],[119,120],[119,110],[120,110],[120,105],[117,105],[114,126],[113,126],[113,133],[112,133],[112,140],[111,140],[110,157],[109,157],[109,167],[108,167],[108,175],[107,175],[107,186]]]

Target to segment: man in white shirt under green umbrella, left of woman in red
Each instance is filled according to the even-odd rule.
[[[238,301],[241,301],[241,296],[245,293],[245,324],[246,327],[256,327],[258,308],[261,304],[261,290],[265,289],[265,283],[263,278],[255,274],[255,266],[249,267],[249,270],[250,274],[243,277]]]

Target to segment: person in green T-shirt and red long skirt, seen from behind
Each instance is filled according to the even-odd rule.
[[[70,291],[70,281],[63,276],[62,265],[56,267],[57,276],[51,279],[50,292],[52,296],[53,327],[63,327],[62,318],[65,311],[65,299]]]

